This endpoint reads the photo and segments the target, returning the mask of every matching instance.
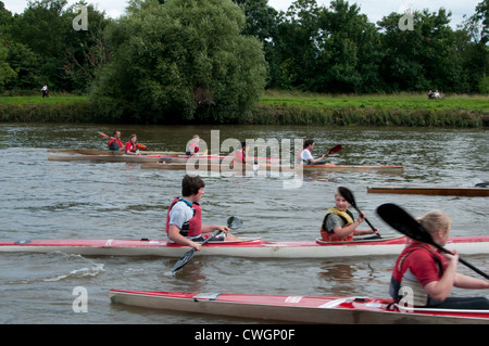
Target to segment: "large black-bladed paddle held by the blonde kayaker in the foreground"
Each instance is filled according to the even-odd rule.
[[[430,244],[443,253],[451,254],[450,251],[436,243],[429,232],[414,219],[411,215],[404,212],[401,207],[392,203],[386,203],[380,205],[377,208],[377,214],[386,221],[390,227],[398,230],[399,232],[408,235],[411,239],[414,239],[418,242]],[[471,268],[478,274],[489,280],[489,275],[484,271],[477,269],[469,262],[459,257],[459,261]]]

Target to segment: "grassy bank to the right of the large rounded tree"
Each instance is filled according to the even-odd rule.
[[[488,127],[489,97],[425,94],[327,95],[264,93],[250,124],[322,126]]]

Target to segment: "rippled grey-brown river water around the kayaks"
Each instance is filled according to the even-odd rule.
[[[441,208],[453,219],[451,235],[488,235],[489,200],[371,194],[367,187],[439,184],[473,187],[489,181],[489,132],[481,129],[319,128],[255,126],[121,126],[150,150],[183,151],[192,134],[220,140],[305,139],[314,153],[335,144],[327,158],[346,165],[403,165],[403,174],[304,174],[300,188],[284,189],[285,177],[205,177],[204,223],[238,216],[240,236],[313,240],[339,185],[350,188],[359,207],[385,234],[394,233],[375,214],[387,202],[412,215]],[[0,240],[162,239],[166,209],[180,193],[184,171],[140,169],[137,164],[50,162],[51,149],[104,149],[97,132],[111,126],[0,126]],[[227,154],[221,153],[221,154]],[[367,228],[367,226],[363,226]],[[62,253],[1,254],[0,323],[255,323],[111,305],[110,289],[290,295],[388,296],[394,257],[316,260],[196,257],[176,275],[170,258],[83,257]],[[471,262],[489,271],[487,256]],[[464,267],[462,272],[473,274]],[[88,311],[73,308],[76,287],[88,295]],[[74,292],[75,290],[75,292]],[[474,292],[454,290],[453,295]],[[487,293],[486,293],[487,296]]]

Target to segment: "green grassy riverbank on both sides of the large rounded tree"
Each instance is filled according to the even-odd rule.
[[[1,97],[0,123],[122,123],[85,95]],[[190,120],[195,124],[196,121]],[[318,94],[265,91],[239,124],[316,126],[489,127],[489,97],[447,94]]]

